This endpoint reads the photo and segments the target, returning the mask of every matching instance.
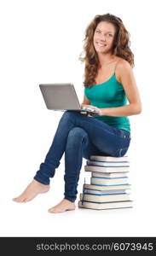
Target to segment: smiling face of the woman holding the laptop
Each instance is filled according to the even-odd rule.
[[[101,21],[95,28],[93,44],[97,54],[108,53],[113,50],[116,28],[112,23]]]

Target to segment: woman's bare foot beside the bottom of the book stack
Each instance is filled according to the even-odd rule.
[[[75,204],[72,201],[63,199],[58,205],[49,209],[50,213],[59,213],[75,210]]]

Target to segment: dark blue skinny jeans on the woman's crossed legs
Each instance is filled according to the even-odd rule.
[[[49,177],[55,176],[55,168],[65,152],[65,198],[75,201],[79,172],[83,157],[90,155],[123,156],[130,146],[130,132],[114,128],[98,119],[76,111],[62,114],[49,152],[34,179],[49,184]]]

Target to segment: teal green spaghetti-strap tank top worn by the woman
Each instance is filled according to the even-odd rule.
[[[102,84],[92,85],[84,88],[84,95],[90,101],[90,105],[97,108],[116,108],[127,104],[127,96],[123,85],[113,76]],[[107,125],[130,131],[130,120],[128,117],[113,117],[107,115],[95,115],[94,119],[99,119]]]

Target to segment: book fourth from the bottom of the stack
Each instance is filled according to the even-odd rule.
[[[118,189],[130,189],[130,184],[123,184],[123,185],[100,185],[100,184],[84,184],[84,189],[97,189],[101,191],[106,190],[118,190]]]

